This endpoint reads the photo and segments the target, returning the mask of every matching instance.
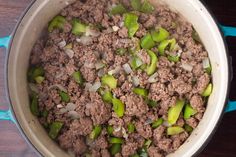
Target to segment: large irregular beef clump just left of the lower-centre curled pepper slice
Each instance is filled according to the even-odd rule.
[[[90,93],[90,100],[86,106],[86,115],[91,116],[95,125],[107,122],[111,117],[109,106],[104,104],[98,93]]]

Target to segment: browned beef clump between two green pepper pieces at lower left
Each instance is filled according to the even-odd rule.
[[[90,118],[80,118],[71,123],[70,129],[77,135],[88,135],[93,129],[93,123]]]

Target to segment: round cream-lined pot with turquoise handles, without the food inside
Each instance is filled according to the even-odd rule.
[[[6,61],[6,89],[11,109],[1,111],[0,119],[14,122],[31,146],[42,156],[67,157],[47,135],[29,109],[27,68],[31,49],[41,32],[60,10],[74,0],[36,0],[32,2],[11,36],[1,38],[0,46],[8,47]],[[236,103],[228,101],[231,66],[224,36],[236,35],[236,29],[218,25],[207,8],[199,0],[152,0],[153,4],[165,3],[182,14],[199,33],[212,63],[214,89],[206,112],[198,127],[187,141],[170,157],[190,157],[199,153],[215,132],[225,111],[236,109]],[[228,103],[226,107],[225,104]]]

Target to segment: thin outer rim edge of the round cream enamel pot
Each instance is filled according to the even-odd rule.
[[[31,9],[31,7],[33,6],[33,4],[36,2],[36,0],[33,0],[30,2],[30,4],[26,7],[26,9],[23,11],[23,13],[21,14],[19,20],[17,21],[16,23],[16,26],[15,28],[13,29],[12,31],[12,34],[11,34],[11,40],[9,42],[9,48],[7,49],[7,52],[6,52],[6,61],[5,61],[5,68],[4,68],[4,73],[5,73],[5,89],[6,89],[6,96],[7,96],[7,100],[8,102],[10,103],[9,104],[9,108],[10,110],[12,111],[12,116],[14,117],[15,121],[16,121],[16,126],[18,128],[18,130],[20,131],[22,137],[25,139],[25,141],[30,145],[30,147],[32,147],[34,150],[35,150],[35,153],[37,153],[38,155],[42,156],[42,153],[37,149],[37,147],[35,147],[33,145],[33,143],[29,140],[28,136],[25,134],[25,132],[23,131],[19,121],[16,119],[16,113],[12,107],[12,101],[11,101],[11,98],[10,98],[10,90],[9,90],[9,80],[8,80],[8,62],[9,62],[9,57],[10,57],[10,52],[11,52],[11,48],[12,48],[12,41],[14,39],[14,36],[20,26],[20,23],[22,22],[22,20],[25,18],[25,16],[27,15],[28,11]],[[203,6],[205,7],[205,9],[207,10],[207,12],[209,13],[209,15],[211,16],[211,18],[213,19],[215,25],[217,26],[218,28],[218,31],[220,32],[221,34],[221,38],[224,42],[224,48],[225,48],[225,52],[226,52],[226,57],[227,57],[227,65],[228,65],[228,68],[229,68],[229,73],[228,73],[228,84],[227,84],[227,93],[226,93],[226,99],[225,99],[225,104],[224,104],[224,107],[223,107],[223,110],[221,111],[220,113],[220,117],[219,117],[219,120],[217,121],[217,123],[215,124],[214,126],[214,129],[212,130],[211,134],[207,137],[207,139],[204,141],[204,143],[202,144],[202,146],[196,150],[193,154],[193,156],[197,156],[199,155],[203,149],[207,146],[207,144],[210,142],[210,140],[212,139],[213,135],[215,134],[217,128],[219,127],[220,123],[222,122],[222,118],[223,118],[223,115],[224,115],[224,110],[226,108],[226,105],[227,105],[227,102],[228,102],[228,97],[229,97],[229,90],[230,90],[230,84],[231,84],[231,71],[232,71],[232,65],[231,65],[231,62],[230,62],[230,56],[229,56],[229,50],[228,50],[228,46],[227,46],[227,43],[226,43],[226,39],[225,39],[225,36],[223,34],[223,32],[221,31],[219,25],[218,25],[218,20],[216,18],[216,16],[213,14],[213,12],[209,9],[209,7],[206,5],[206,3],[202,0],[200,0],[200,3],[203,4]]]

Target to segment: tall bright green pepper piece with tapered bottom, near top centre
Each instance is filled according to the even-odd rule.
[[[132,38],[139,29],[138,16],[134,13],[125,14],[125,27],[128,29],[129,37]]]

